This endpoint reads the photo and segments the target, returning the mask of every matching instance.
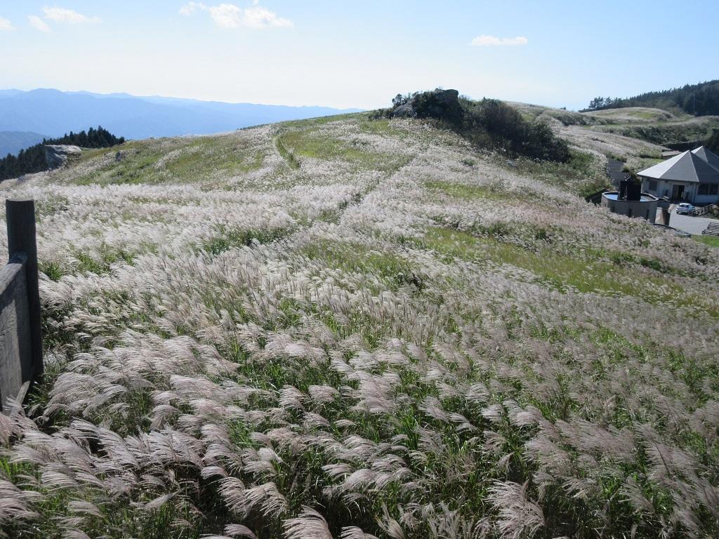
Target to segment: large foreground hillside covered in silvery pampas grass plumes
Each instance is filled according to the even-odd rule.
[[[358,114],[0,184],[47,347],[2,533],[718,535],[719,250],[580,198],[659,147],[554,126],[572,162]]]

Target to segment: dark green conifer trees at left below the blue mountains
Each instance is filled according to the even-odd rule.
[[[17,156],[8,154],[4,159],[0,159],[0,181],[47,170],[48,165],[45,159],[45,145],[47,144],[73,144],[83,148],[109,148],[123,142],[125,142],[124,137],[115,137],[114,134],[102,126],[98,126],[97,129],[91,127],[87,131],[79,133],[70,132],[58,139],[42,139],[40,144],[21,149]]]

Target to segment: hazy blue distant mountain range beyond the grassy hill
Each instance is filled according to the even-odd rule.
[[[32,132],[60,137],[70,131],[101,125],[118,137],[147,139],[227,132],[275,121],[359,110],[138,97],[127,93],[0,90],[0,132]],[[15,138],[22,139],[19,135]],[[6,155],[6,148],[14,147],[12,144],[17,146],[14,142],[4,144],[6,146],[0,147],[4,148],[0,155]]]

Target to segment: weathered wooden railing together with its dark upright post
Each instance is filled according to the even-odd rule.
[[[0,270],[0,410],[42,374],[35,201],[7,200],[9,262]]]

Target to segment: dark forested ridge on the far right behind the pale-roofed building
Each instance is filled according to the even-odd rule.
[[[587,110],[623,109],[628,106],[679,109],[694,116],[719,115],[719,80],[687,84],[682,88],[671,90],[641,93],[628,98],[595,97],[590,101]]]

